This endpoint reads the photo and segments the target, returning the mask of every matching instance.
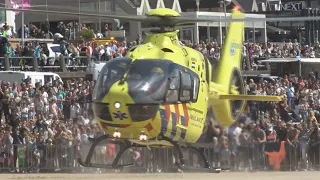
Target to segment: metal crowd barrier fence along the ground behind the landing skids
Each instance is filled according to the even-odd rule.
[[[319,170],[320,144],[306,143],[261,143],[231,145],[206,148],[206,156],[212,167],[231,171],[295,171]],[[2,172],[108,172],[104,169],[83,168],[77,158],[85,160],[90,144],[72,145],[2,145],[0,169]],[[116,145],[98,146],[91,163],[112,163],[118,147]],[[131,148],[127,150],[120,164],[133,163],[126,171],[170,172],[178,160],[176,151],[170,148]],[[187,167],[203,167],[202,159],[193,150],[183,149]],[[277,167],[277,162],[279,167]]]

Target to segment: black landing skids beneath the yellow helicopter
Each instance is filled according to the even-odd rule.
[[[175,165],[176,168],[178,168],[179,172],[189,172],[189,171],[191,171],[191,172],[214,172],[214,173],[220,173],[221,169],[212,168],[210,166],[210,163],[209,163],[209,161],[208,161],[208,159],[207,159],[207,157],[205,155],[204,148],[197,148],[197,147],[192,147],[192,146],[187,146],[186,147],[186,148],[190,148],[190,149],[198,152],[200,157],[201,157],[201,159],[204,161],[204,166],[205,166],[204,168],[192,168],[192,167],[185,166],[185,160],[184,160],[184,157],[183,157],[181,146],[177,142],[172,141],[171,139],[166,138],[166,137],[163,137],[162,140],[171,143],[172,146],[175,148],[175,150],[177,152],[177,155],[178,155],[179,162],[178,161],[175,162],[174,165]],[[78,158],[79,164],[81,166],[83,166],[83,167],[113,169],[116,172],[121,171],[124,167],[134,166],[133,163],[119,165],[119,160],[120,160],[122,154],[126,150],[128,150],[130,148],[133,148],[133,147],[146,147],[146,146],[143,146],[143,145],[132,143],[132,142],[130,142],[128,140],[123,140],[123,139],[114,140],[113,138],[111,138],[108,135],[103,135],[103,136],[100,136],[99,138],[96,138],[96,139],[92,138],[92,139],[90,139],[90,141],[93,142],[93,144],[90,147],[89,153],[88,153],[85,161],[82,161],[81,158]],[[112,164],[91,163],[91,159],[93,157],[93,154],[94,154],[96,146],[99,145],[101,142],[104,142],[104,141],[107,141],[108,143],[117,144],[117,145],[120,146],[120,150],[117,153],[115,159],[113,160]]]

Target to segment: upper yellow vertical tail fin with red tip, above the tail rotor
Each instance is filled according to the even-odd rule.
[[[240,11],[234,10],[232,13],[232,19],[241,18],[244,18],[244,14]],[[243,33],[243,21],[229,23],[228,33],[223,45],[223,52],[219,60],[218,68],[216,69],[217,72],[214,79],[215,83],[229,84],[234,69],[240,70],[243,49]],[[228,89],[226,89],[226,91],[227,90]]]

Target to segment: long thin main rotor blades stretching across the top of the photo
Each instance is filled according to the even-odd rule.
[[[145,23],[154,23],[159,25],[179,25],[179,24],[188,24],[188,23],[197,23],[197,22],[278,22],[278,21],[317,21],[320,20],[320,16],[316,17],[281,17],[281,18],[239,18],[231,19],[227,18],[217,18],[217,17],[159,17],[159,16],[146,16],[146,15],[118,15],[118,14],[90,14],[90,13],[76,13],[76,12],[61,12],[61,11],[50,11],[50,10],[38,10],[38,9],[14,9],[14,8],[5,8],[0,7],[3,10],[9,11],[20,11],[20,12],[31,12],[31,13],[47,13],[47,14],[61,14],[65,16],[82,16],[82,17],[93,17],[93,18],[102,18],[102,19],[121,19],[128,21],[137,21]]]

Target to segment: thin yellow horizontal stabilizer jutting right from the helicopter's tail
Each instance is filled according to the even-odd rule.
[[[256,96],[256,95],[219,95],[219,99],[246,100],[246,101],[282,101],[281,96]]]

